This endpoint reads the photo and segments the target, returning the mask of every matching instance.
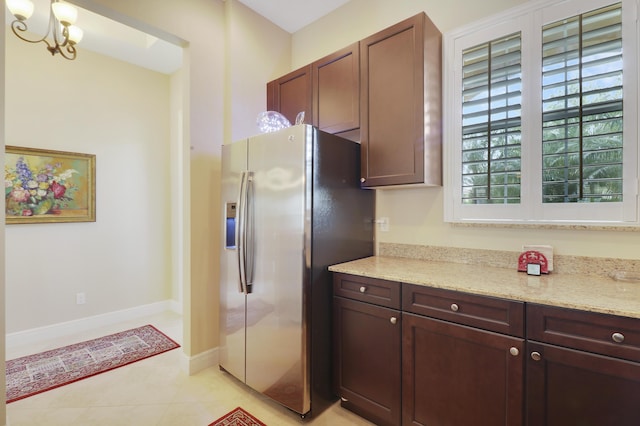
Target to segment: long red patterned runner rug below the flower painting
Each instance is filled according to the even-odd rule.
[[[152,325],[7,361],[7,403],[48,391],[180,345]]]

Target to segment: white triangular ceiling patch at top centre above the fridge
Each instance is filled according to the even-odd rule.
[[[280,28],[295,33],[350,0],[239,0]]]

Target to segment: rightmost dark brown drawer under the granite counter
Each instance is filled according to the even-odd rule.
[[[640,319],[527,305],[527,338],[640,362]]]

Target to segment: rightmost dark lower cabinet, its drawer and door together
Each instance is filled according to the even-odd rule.
[[[640,425],[640,319],[527,304],[527,425]]]

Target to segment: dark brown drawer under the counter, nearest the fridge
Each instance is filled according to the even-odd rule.
[[[334,273],[333,293],[348,299],[400,309],[400,283],[396,281]]]

